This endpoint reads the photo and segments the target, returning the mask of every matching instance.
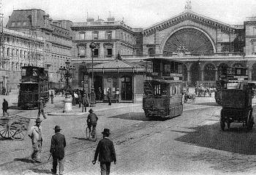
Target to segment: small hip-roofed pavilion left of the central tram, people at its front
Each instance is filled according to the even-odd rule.
[[[97,64],[94,66],[96,100],[108,101],[107,94],[110,89],[113,102],[140,103],[143,98],[145,70],[143,66],[120,59]],[[88,71],[89,87],[91,87],[91,67]]]

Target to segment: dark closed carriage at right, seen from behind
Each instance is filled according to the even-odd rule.
[[[243,123],[247,131],[252,130],[252,90],[226,89],[222,91],[222,111],[220,126],[222,131],[230,128],[230,123]]]

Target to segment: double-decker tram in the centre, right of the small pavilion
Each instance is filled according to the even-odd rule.
[[[167,58],[146,59],[143,110],[148,118],[172,118],[182,114],[183,63]]]

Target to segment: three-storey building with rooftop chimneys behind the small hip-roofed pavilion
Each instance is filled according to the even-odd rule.
[[[99,63],[106,63],[105,65],[111,65],[105,68],[105,71],[98,70],[96,77],[94,79],[95,91],[98,93],[98,88],[101,88],[105,93],[108,88],[116,91],[117,88],[121,86],[120,74],[110,73],[109,70],[113,66],[124,66],[123,62],[113,62],[118,54],[120,55],[142,55],[142,28],[130,28],[125,25],[123,21],[115,21],[114,18],[108,18],[107,21],[93,18],[88,18],[86,23],[73,23],[71,27],[72,34],[72,63],[76,66],[76,77],[73,81],[73,87],[76,88],[86,88],[90,92],[90,76],[91,76],[91,65],[92,65],[92,55],[94,57],[94,66]],[[91,43],[94,43],[95,48],[91,50]],[[116,63],[116,65],[115,65]],[[119,65],[119,64],[120,65]],[[124,63],[126,65],[126,63]],[[129,65],[129,63],[127,64]],[[95,69],[99,69],[99,65]],[[129,67],[132,70],[132,66]],[[115,69],[115,68],[114,68]],[[116,70],[116,69],[115,69]],[[121,72],[121,67],[118,71]],[[108,72],[108,73],[107,73]],[[116,72],[116,71],[114,71]],[[117,73],[117,72],[116,72]],[[127,75],[127,71],[125,71]],[[129,73],[128,73],[129,74]],[[120,77],[120,78],[117,78]],[[132,79],[132,77],[127,77]],[[135,81],[135,79],[130,80]],[[128,87],[128,82],[127,82]],[[124,90],[124,89],[123,89]],[[132,87],[127,88],[130,91],[129,96],[132,96]],[[121,91],[122,92],[122,91]],[[115,92],[113,92],[115,93]],[[132,98],[123,98],[122,100],[130,100]]]

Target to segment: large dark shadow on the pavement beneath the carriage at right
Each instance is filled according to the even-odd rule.
[[[242,155],[256,155],[255,128],[246,132],[246,128],[241,123],[231,123],[229,131],[227,126],[225,131],[222,131],[219,123],[214,123],[214,125],[200,125],[188,129],[194,131],[176,131],[186,134],[175,140]]]

